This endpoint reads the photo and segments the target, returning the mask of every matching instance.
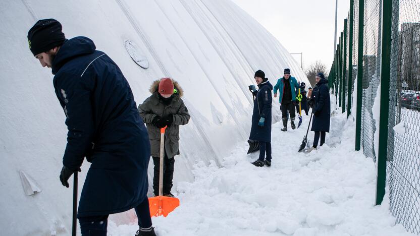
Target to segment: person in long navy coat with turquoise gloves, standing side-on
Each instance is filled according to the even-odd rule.
[[[273,100],[271,90],[273,85],[266,78],[266,74],[258,70],[254,75],[255,82],[258,85],[250,85],[249,90],[255,96],[254,109],[252,112],[252,125],[250,140],[256,140],[259,143],[259,158],[251,164],[255,166],[271,166],[271,102]],[[266,157],[266,159],[264,159]]]

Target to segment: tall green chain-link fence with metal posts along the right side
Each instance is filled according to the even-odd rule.
[[[387,184],[397,222],[420,234],[420,1],[350,0],[329,82],[378,167],[376,204]]]

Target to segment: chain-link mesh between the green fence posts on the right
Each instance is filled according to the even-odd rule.
[[[347,107],[345,98],[352,96],[347,88],[352,86],[353,91],[354,81],[362,77],[360,144],[364,155],[375,162],[379,148],[379,120],[388,117],[388,127],[381,129],[388,132],[386,183],[390,211],[407,231],[420,234],[420,0],[392,0],[392,14],[384,16],[391,17],[392,22],[391,26],[384,25],[391,27],[388,114],[380,113],[381,98],[377,94],[381,84],[383,0],[363,2],[363,12],[360,12],[358,0],[353,3],[352,29],[350,17],[347,17],[347,27],[341,34],[338,55],[335,55],[332,65],[336,69],[332,86],[335,87],[336,101],[339,99],[338,105]],[[361,29],[359,32],[360,14],[363,14],[362,36]],[[353,35],[351,42],[349,34]],[[363,51],[358,50],[361,42]],[[352,55],[349,54],[349,43],[353,45]],[[388,45],[387,42],[384,45]],[[363,59],[360,72],[357,71],[359,54]],[[351,67],[348,66],[349,56],[352,58]],[[351,78],[349,70],[352,70]],[[353,104],[356,105],[355,99]]]

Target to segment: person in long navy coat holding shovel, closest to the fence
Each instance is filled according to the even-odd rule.
[[[317,149],[320,137],[320,146],[322,146],[325,143],[326,132],[330,132],[331,104],[328,80],[325,79],[323,73],[318,73],[315,77],[315,82],[317,83],[317,87],[313,88],[312,91],[314,103],[312,108],[312,128],[310,129],[315,132],[315,135],[313,138],[313,145],[308,151]]]

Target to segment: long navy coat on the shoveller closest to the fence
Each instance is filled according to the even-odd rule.
[[[328,80],[321,79],[317,87],[313,88],[312,99],[314,104],[312,108],[313,121],[311,131],[330,132],[330,92],[328,88]],[[318,116],[315,115],[319,111]]]

